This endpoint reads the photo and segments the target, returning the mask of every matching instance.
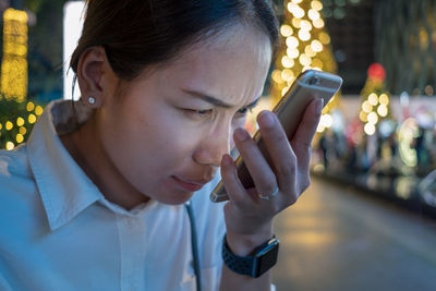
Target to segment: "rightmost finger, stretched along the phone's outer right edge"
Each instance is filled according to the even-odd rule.
[[[295,135],[291,141],[299,166],[303,167],[300,169],[302,171],[308,170],[308,161],[312,154],[312,140],[319,123],[323,104],[324,100],[322,98],[317,98],[307,106],[300,125],[296,129]]]

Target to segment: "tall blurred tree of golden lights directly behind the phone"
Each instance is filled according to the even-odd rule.
[[[335,73],[337,70],[330,37],[324,31],[325,23],[320,13],[323,3],[318,0],[284,0],[283,5],[284,20],[280,34],[284,44],[271,74],[271,95],[276,100],[288,90],[301,72],[312,69]],[[323,116],[337,107],[338,100],[332,98],[323,110]],[[323,120],[319,129],[325,130],[334,123],[330,114],[324,116]]]

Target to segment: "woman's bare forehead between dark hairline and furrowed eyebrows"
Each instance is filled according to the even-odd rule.
[[[161,77],[210,96],[255,98],[262,94],[270,60],[269,38],[238,26],[190,47],[164,69]]]

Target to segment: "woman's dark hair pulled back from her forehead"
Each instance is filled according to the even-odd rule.
[[[276,48],[278,21],[270,0],[88,0],[70,65],[76,72],[80,56],[102,46],[118,77],[130,81],[237,23],[257,27]]]

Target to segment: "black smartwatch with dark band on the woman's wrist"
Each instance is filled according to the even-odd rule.
[[[279,253],[279,240],[276,237],[257,246],[249,256],[238,256],[232,253],[225,235],[222,242],[222,260],[232,271],[251,276],[261,277],[277,263]]]

